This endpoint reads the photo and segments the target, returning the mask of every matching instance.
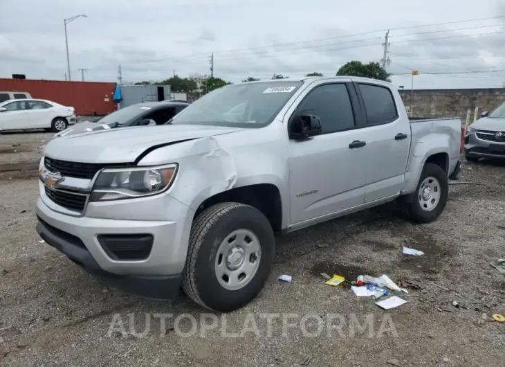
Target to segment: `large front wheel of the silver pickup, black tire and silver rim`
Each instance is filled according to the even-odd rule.
[[[237,283],[237,289],[232,287],[230,276],[226,283],[226,274],[242,275],[242,270],[230,271],[226,259],[232,259],[233,251],[240,252],[239,246],[233,246],[229,251],[229,242],[225,240],[232,233],[239,231],[239,238],[244,238],[244,252],[237,258],[243,258],[242,265],[250,265],[255,271],[250,271],[246,278]],[[247,235],[246,233],[252,233]],[[255,238],[254,238],[255,236]],[[247,240],[251,240],[247,243]],[[235,242],[235,241],[234,241]],[[258,244],[259,242],[259,244]],[[248,247],[250,246],[250,247]],[[259,246],[256,256],[248,257],[250,249]],[[275,253],[275,238],[272,226],[266,216],[252,206],[239,203],[221,203],[205,209],[192,224],[190,244],[183,271],[183,289],[185,294],[194,302],[216,312],[230,312],[244,307],[263,289],[270,268],[272,267]],[[257,256],[259,254],[259,256]],[[255,260],[256,259],[256,260]],[[236,259],[235,259],[236,260]],[[255,262],[255,261],[257,262]],[[251,265],[253,264],[253,265]],[[233,265],[230,265],[232,267]],[[235,266],[239,266],[238,263]],[[224,269],[224,270],[223,270]],[[239,267],[239,269],[243,269]],[[228,271],[221,276],[222,271]],[[246,271],[246,270],[244,270]],[[218,275],[219,274],[219,275]],[[241,282],[244,282],[240,284]],[[226,283],[226,287],[225,284]],[[228,287],[228,288],[227,288]]]

